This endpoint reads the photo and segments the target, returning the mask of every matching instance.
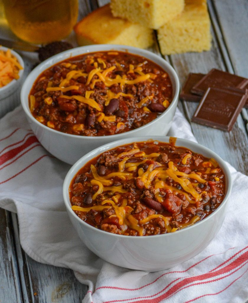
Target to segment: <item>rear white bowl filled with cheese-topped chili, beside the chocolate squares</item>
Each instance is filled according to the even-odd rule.
[[[111,60],[108,57],[105,57],[107,58],[106,60],[109,60],[106,61],[106,63],[102,63],[101,58],[93,58],[95,60],[94,62],[95,66],[92,67],[93,70],[91,69],[90,71],[90,69],[88,70],[86,69],[86,71],[88,71],[88,74],[87,72],[81,73],[82,79],[79,78],[80,81],[82,82],[87,81],[89,83],[87,84],[86,82],[81,85],[79,83],[79,80],[76,83],[75,81],[77,80],[79,74],[72,75],[74,71],[72,71],[72,73],[68,72],[70,71],[71,66],[75,65],[74,64],[75,62],[73,63],[70,60],[73,60],[72,57],[75,56],[79,56],[82,54],[89,55],[90,53],[96,53],[96,52],[98,54],[107,52],[107,54],[110,54],[108,56],[112,56],[112,57],[116,56],[115,54],[116,53],[118,54],[119,52],[119,56],[120,57],[122,56],[122,58],[124,56],[122,54],[123,52],[125,53],[126,56],[132,55],[135,57],[142,58],[143,65],[153,63],[154,66],[157,67],[157,70],[155,68],[152,69],[150,72],[147,72],[148,69],[146,67],[142,67],[143,66],[142,64],[139,66],[140,63],[134,62],[134,65],[129,64],[128,66],[129,69],[125,70],[124,75],[121,74],[122,70],[115,71],[116,74],[112,75],[111,73],[113,73],[113,70],[109,71],[108,68],[108,66],[111,65]],[[116,58],[118,58],[118,56],[116,56]],[[58,72],[56,73],[56,70],[54,71],[53,66],[56,64],[57,65],[60,64],[59,62],[64,60],[66,60],[66,62],[64,62],[63,64],[69,63],[70,68],[65,67],[65,65],[61,65],[58,69]],[[128,58],[127,61],[128,60],[131,59]],[[122,66],[122,65],[125,66],[125,68],[127,68],[124,59],[122,59],[121,63],[123,64],[119,64],[119,62],[117,62],[115,67],[111,66],[110,69],[111,68],[116,69],[118,66]],[[53,68],[51,69],[51,67]],[[68,73],[66,75],[64,75],[63,72],[61,72],[62,67],[64,69],[67,68]],[[121,68],[122,67],[120,67],[120,69]],[[105,72],[106,69],[108,69],[107,72]],[[83,68],[81,68],[81,70],[83,70]],[[160,74],[157,76],[155,73],[158,72],[158,70]],[[56,79],[53,80],[54,82],[52,84],[51,83],[49,84],[48,79],[46,79],[46,76],[47,78],[51,76],[51,74],[49,74],[49,71],[53,72],[54,78],[57,77],[56,78],[57,80]],[[76,72],[78,72],[78,70]],[[45,79],[41,79],[41,75]],[[71,76],[74,77],[75,79],[74,78],[71,79],[70,78]],[[142,87],[140,88],[134,87],[136,85],[135,81],[139,81],[139,83],[143,83],[142,80],[144,80],[144,83],[146,83],[146,85],[148,86],[149,83],[151,84],[153,81],[155,81],[154,79],[156,77],[162,77],[162,76],[165,79],[164,80],[165,85],[163,89],[161,89],[160,91],[156,91],[156,89],[153,87],[150,91],[146,92],[144,89],[142,89]],[[167,76],[168,78],[166,80]],[[62,79],[61,77],[63,78],[63,80],[61,80]],[[85,77],[85,79],[83,79],[83,77]],[[129,79],[130,77],[131,80]],[[38,79],[38,82],[36,79]],[[70,83],[68,82],[69,84],[67,83],[69,87],[65,85],[65,82],[63,82],[63,81],[67,81],[68,79],[70,81]],[[96,84],[97,81],[98,84]],[[96,97],[94,93],[92,93],[92,91],[89,89],[91,89],[90,88],[92,87],[91,85],[93,85],[94,89],[98,85],[98,89],[100,90],[101,89],[100,87],[101,83],[99,83],[100,81],[103,81],[104,83],[103,89],[107,89],[107,94],[105,92],[106,95],[104,95],[104,93],[101,92],[100,97],[99,96]],[[111,91],[112,86],[110,87],[110,85],[112,82],[116,82],[114,83],[114,85],[117,84],[118,86],[115,92]],[[75,83],[77,85],[72,85]],[[137,94],[138,93],[140,94],[139,97],[137,97],[138,99],[136,97],[133,97],[134,95],[132,95],[132,88],[130,87],[129,88],[124,87],[125,88],[123,89],[124,92],[118,92],[119,87],[123,83],[124,86],[127,84],[129,86],[134,87],[133,90],[136,91]],[[45,88],[42,86],[43,84],[45,84]],[[87,86],[86,84],[90,86]],[[40,93],[40,96],[39,96],[39,92],[37,92],[36,90],[34,91],[34,86],[37,87],[39,85],[41,86],[41,91],[43,90],[42,93]],[[57,85],[57,87],[54,87],[54,85]],[[86,85],[86,89],[88,89],[87,91],[85,91],[85,87],[83,85],[84,86]],[[62,86],[64,90],[63,92],[61,92]],[[152,52],[139,48],[121,46],[121,45],[88,45],[79,48],[74,48],[62,52],[60,54],[57,54],[47,59],[46,61],[42,62],[36,68],[34,68],[34,70],[28,75],[22,87],[21,104],[28,118],[28,121],[31,125],[31,128],[34,131],[34,134],[37,136],[38,140],[41,142],[44,148],[46,148],[52,155],[59,158],[60,160],[73,164],[82,155],[85,155],[87,152],[93,150],[94,148],[100,145],[106,144],[108,142],[113,142],[114,140],[119,140],[122,138],[134,137],[139,135],[152,135],[154,133],[158,135],[166,135],[171,126],[172,118],[175,114],[176,106],[178,103],[179,86],[180,86],[179,80],[175,70],[162,57],[159,57],[158,55],[155,55]],[[108,89],[109,87],[111,88],[110,91]],[[75,88],[79,88],[79,89],[78,90],[76,89],[75,91]],[[166,98],[161,99],[162,97],[165,96],[163,91],[166,92],[167,88],[171,89],[171,95],[170,97],[168,97],[169,101]],[[67,93],[68,89],[70,89],[69,93]],[[54,92],[52,98],[50,92],[51,90],[53,90]],[[60,92],[54,90],[59,90]],[[63,97],[61,95],[56,97],[56,94],[57,95],[62,94]],[[103,102],[101,101],[102,97],[105,98],[104,105]],[[34,107],[32,107],[33,105],[29,105],[29,98],[31,104],[33,104]],[[40,99],[43,98],[42,102],[45,103],[45,104],[42,103],[42,106],[40,106],[41,100],[39,98]],[[137,102],[139,101],[139,106],[140,106],[140,108],[138,108],[138,105],[137,106],[135,105],[135,111],[133,112],[132,112],[132,98],[134,99],[133,102],[136,102],[135,103],[136,105],[138,104]],[[160,101],[158,100],[159,98]],[[117,102],[118,103],[117,105],[112,104],[115,102],[112,102],[109,99],[111,100],[118,99],[119,103]],[[162,102],[161,100],[164,100],[162,104],[161,104]],[[158,102],[158,101],[160,102],[159,105],[155,105],[155,106],[151,105],[152,102]],[[101,102],[102,104],[100,104]],[[116,108],[118,108],[119,106],[119,109],[117,109],[117,111],[115,112],[113,112],[113,108],[112,109],[110,108],[109,110],[108,105],[110,105],[110,103],[113,105],[113,107],[117,106]],[[30,110],[30,106],[31,106],[31,110]],[[36,109],[35,106],[37,106],[37,108],[39,106],[40,107]],[[159,107],[160,109],[156,107]],[[114,109],[116,110],[116,108]],[[142,113],[141,113],[141,108],[142,108]],[[151,109],[153,112],[151,112]],[[162,110],[163,112],[160,113],[158,112],[159,110]],[[31,113],[31,111],[34,115]],[[136,111],[137,112],[139,111],[138,122],[135,121]],[[124,118],[122,117],[122,115],[124,115]],[[131,119],[130,115],[132,115],[132,121],[128,120]],[[153,118],[149,118],[150,120],[145,120],[148,119],[149,115],[151,117],[153,115]],[[65,119],[67,119],[66,122]],[[81,122],[79,123],[80,119]],[[116,125],[113,126],[112,123],[113,121],[111,119],[114,119],[113,121],[116,122]],[[133,126],[133,122],[136,123],[134,126]],[[146,124],[143,125],[144,123]],[[139,127],[139,124],[142,126]],[[124,132],[125,129],[128,129],[128,125],[132,125],[132,127],[137,127],[137,128],[132,129],[131,127],[131,130]],[[60,128],[60,131],[58,131],[57,128]],[[68,131],[69,128],[70,130],[73,130],[71,131],[72,133],[67,133],[69,132]],[[96,128],[98,128],[98,130]],[[94,136],[94,132],[95,134],[99,133],[101,135]],[[110,134],[110,132],[112,132],[112,134]],[[78,134],[82,133],[83,135],[77,135],[77,133]]]

